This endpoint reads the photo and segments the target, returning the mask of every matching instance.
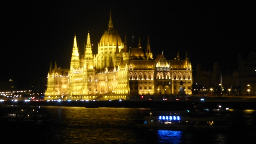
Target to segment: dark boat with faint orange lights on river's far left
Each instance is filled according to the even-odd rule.
[[[8,105],[0,107],[0,120],[12,124],[44,124],[49,113],[41,107]]]

